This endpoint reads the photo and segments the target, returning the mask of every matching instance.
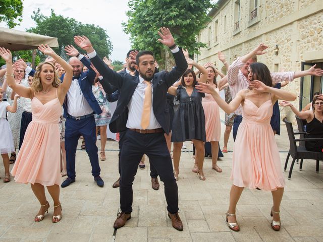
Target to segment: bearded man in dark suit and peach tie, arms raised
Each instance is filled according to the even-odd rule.
[[[173,227],[183,230],[178,215],[178,191],[173,174],[172,160],[167,148],[164,132],[169,133],[170,117],[166,101],[168,88],[187,69],[182,50],[175,44],[167,28],[158,31],[159,42],[173,52],[176,67],[171,72],[155,73],[154,57],[151,51],[141,51],[136,56],[136,70],[139,77],[122,76],[104,65],[97,56],[91,42],[76,36],[75,43],[87,51],[91,62],[103,78],[120,90],[118,105],[111,119],[112,132],[126,131],[121,151],[120,207],[121,213],[114,223],[120,228],[131,218],[132,182],[143,154],[146,154],[164,182],[168,216]],[[148,104],[148,105],[147,105]]]

